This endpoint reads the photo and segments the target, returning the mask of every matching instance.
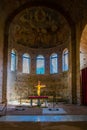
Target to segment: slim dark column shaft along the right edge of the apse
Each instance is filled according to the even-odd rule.
[[[71,50],[70,50],[70,72],[71,72],[71,93],[72,93],[72,103],[76,104],[77,103],[77,91],[76,91],[76,77],[77,77],[77,73],[76,73],[76,29],[75,27],[73,27],[73,29],[71,30]]]

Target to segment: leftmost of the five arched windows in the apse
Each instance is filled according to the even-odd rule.
[[[17,55],[16,51],[12,49],[11,51],[11,71],[15,71],[17,69]]]

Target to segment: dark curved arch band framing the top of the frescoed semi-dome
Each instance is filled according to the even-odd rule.
[[[22,10],[26,9],[26,8],[30,8],[30,7],[37,7],[37,6],[45,6],[47,8],[51,8],[53,10],[56,10],[58,12],[60,12],[61,15],[64,16],[64,18],[66,19],[66,21],[69,23],[69,26],[72,27],[74,25],[74,22],[72,20],[72,18],[70,17],[69,13],[67,11],[65,11],[63,9],[63,7],[61,5],[55,4],[54,2],[49,2],[49,1],[40,1],[38,0],[36,1],[28,1],[25,4],[23,4],[21,7],[17,8],[16,10],[14,10],[7,18],[6,23],[8,25],[10,25],[11,21],[14,19],[14,17],[20,13]],[[8,26],[9,28],[9,26]]]

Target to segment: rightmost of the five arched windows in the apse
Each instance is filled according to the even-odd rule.
[[[69,63],[68,63],[68,49],[64,49],[63,55],[62,55],[62,68],[63,71],[67,71],[69,68]]]

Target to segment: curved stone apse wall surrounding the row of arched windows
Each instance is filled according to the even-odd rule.
[[[68,44],[68,43],[66,43]],[[14,46],[14,47],[13,47]],[[62,101],[68,101],[70,96],[69,88],[69,72],[62,71],[62,52],[65,49],[65,44],[52,49],[31,49],[25,46],[10,45],[8,52],[8,83],[7,83],[7,99],[9,101],[28,98],[30,95],[37,95],[37,90],[34,86],[38,80],[46,85],[46,88],[41,89],[41,95],[60,97]],[[68,47],[68,46],[67,46]],[[18,56],[18,64],[16,72],[11,71],[11,50],[15,48]],[[30,74],[22,73],[22,55],[28,53],[31,57]],[[50,74],[50,55],[58,54],[58,74]],[[42,54],[46,58],[45,74],[36,74],[36,56]]]

